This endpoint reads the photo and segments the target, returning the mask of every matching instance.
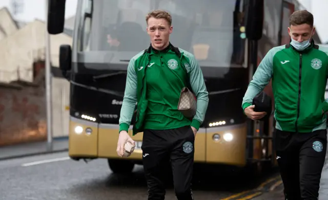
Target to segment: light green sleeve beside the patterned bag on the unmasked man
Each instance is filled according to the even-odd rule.
[[[194,116],[191,126],[199,129],[200,124],[202,124],[206,110],[209,104],[209,93],[205,85],[203,74],[201,72],[200,66],[196,61],[195,57],[189,55],[190,62],[190,85],[197,97],[197,110],[196,115]]]

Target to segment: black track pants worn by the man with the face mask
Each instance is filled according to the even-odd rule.
[[[326,155],[327,130],[275,131],[275,146],[285,199],[317,200]]]

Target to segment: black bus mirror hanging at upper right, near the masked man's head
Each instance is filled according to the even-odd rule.
[[[250,40],[259,40],[263,32],[264,0],[248,0],[245,33]]]

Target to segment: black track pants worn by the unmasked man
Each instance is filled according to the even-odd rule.
[[[168,161],[171,161],[177,199],[193,199],[191,180],[194,140],[194,132],[190,126],[168,130],[144,130],[141,149],[149,200],[165,199],[163,167],[167,166]]]

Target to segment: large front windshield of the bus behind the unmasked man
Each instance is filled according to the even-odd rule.
[[[242,0],[81,0],[76,13],[76,60],[86,68],[128,62],[150,46],[146,15],[172,15],[173,46],[191,52],[201,66],[244,65]],[[91,64],[98,63],[98,64]]]

